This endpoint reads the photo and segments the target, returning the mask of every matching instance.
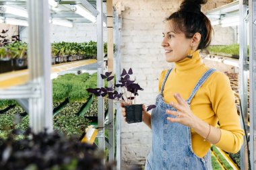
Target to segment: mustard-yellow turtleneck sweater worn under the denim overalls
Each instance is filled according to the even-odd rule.
[[[185,58],[175,62],[175,67],[164,85],[164,101],[177,103],[174,93],[180,93],[184,99],[188,99],[197,81],[208,69],[210,68],[201,62],[199,50],[194,52],[191,59]],[[162,71],[160,75],[159,91],[167,71]],[[216,127],[219,121],[221,138],[216,146],[229,153],[240,150],[244,133],[234,102],[234,92],[224,73],[215,71],[203,83],[191,101],[191,110],[195,116],[212,126]],[[191,137],[193,151],[197,156],[204,157],[211,146],[210,142],[204,142],[203,137],[193,129],[191,129]]]

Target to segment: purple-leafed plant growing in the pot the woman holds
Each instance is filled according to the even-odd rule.
[[[114,79],[114,76],[111,76],[112,72],[106,72],[105,75],[100,75],[102,79],[106,79],[106,81],[111,81]],[[115,99],[117,101],[123,101],[125,103],[129,103],[130,105],[136,103],[136,96],[139,95],[138,91],[143,90],[139,84],[135,83],[135,80],[131,80],[130,75],[133,74],[132,69],[130,68],[128,73],[125,69],[123,69],[123,73],[121,74],[121,80],[119,80],[118,84],[111,85],[111,87],[101,87],[95,89],[86,89],[89,93],[93,93],[96,96],[108,97],[108,99]],[[118,93],[115,90],[115,87],[120,87],[121,92]],[[134,101],[134,102],[133,102]],[[147,111],[156,108],[156,105],[148,105]]]

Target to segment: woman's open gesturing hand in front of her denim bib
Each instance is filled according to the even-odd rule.
[[[174,94],[174,98],[178,101],[178,103],[170,102],[170,105],[172,105],[173,108],[177,109],[177,112],[172,110],[166,110],[166,114],[170,114],[173,116],[176,116],[176,118],[170,118],[168,117],[167,120],[169,122],[178,122],[180,124],[183,124],[185,126],[192,126],[197,122],[197,117],[193,114],[191,111],[189,105],[187,104],[187,101],[181,97],[179,93]]]

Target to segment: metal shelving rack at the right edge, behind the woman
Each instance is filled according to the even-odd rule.
[[[246,137],[241,148],[241,169],[256,169],[256,0],[239,0],[234,1],[223,7],[208,11],[207,15],[221,24],[221,20],[225,17],[239,17],[239,95],[241,98],[241,107],[243,111],[244,122],[248,123],[248,105],[247,105],[247,71],[249,71],[250,79],[250,127],[249,127],[249,146],[247,146]],[[249,36],[247,28],[249,26]],[[249,63],[247,62],[247,38],[249,38]],[[241,118],[241,124],[242,118]],[[247,130],[248,127],[246,126]],[[247,131],[248,132],[248,131]],[[249,159],[247,157],[247,150]]]

